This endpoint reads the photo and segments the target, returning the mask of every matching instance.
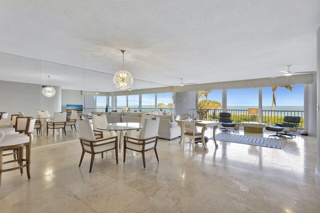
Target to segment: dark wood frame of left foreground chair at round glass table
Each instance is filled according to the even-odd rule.
[[[87,141],[87,140],[84,140],[84,139],[80,139],[80,144],[81,144],[81,147],[82,147],[82,154],[81,154],[81,158],[80,158],[80,163],[79,163],[79,167],[81,166],[81,163],[82,163],[82,159],[83,159],[83,156],[84,156],[84,153],[89,153],[91,154],[91,161],[90,161],[90,170],[89,170],[89,173],[91,173],[92,171],[92,167],[93,167],[93,161],[94,161],[94,156],[96,154],[100,154],[101,153],[101,158],[103,158],[103,152],[106,152],[106,151],[110,151],[110,150],[113,150],[115,151],[115,161],[116,161],[116,164],[118,164],[118,137],[117,136],[114,136],[114,137],[111,137],[111,138],[103,138],[103,139],[99,139],[99,140],[95,140],[95,141]],[[97,142],[101,142],[101,141],[106,141],[106,140],[111,140],[111,139],[114,139],[113,141],[109,141],[109,142],[106,142],[106,143],[102,143],[102,144],[95,144],[93,145],[93,143],[97,143]],[[89,147],[91,149],[91,151],[87,151],[84,149],[83,146],[88,146],[87,144],[84,144],[83,143],[86,142],[86,143],[90,143]],[[115,146],[114,148],[111,148],[111,149],[108,149],[108,150],[103,150],[103,151],[100,151],[100,152],[94,152],[94,147],[98,147],[98,146],[103,146],[103,145],[107,145],[107,144],[111,144],[111,143],[115,143]]]

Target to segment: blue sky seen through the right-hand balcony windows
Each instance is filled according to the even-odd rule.
[[[293,85],[295,89],[290,92],[285,88],[277,88],[276,105],[277,106],[303,106],[304,89],[303,85]],[[202,100],[203,98],[199,99]],[[208,99],[222,101],[222,90],[212,90],[208,94]],[[272,90],[271,87],[262,88],[262,105],[271,106]],[[228,89],[228,106],[258,106],[258,89]]]

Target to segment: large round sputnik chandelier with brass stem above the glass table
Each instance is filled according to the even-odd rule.
[[[113,84],[116,88],[120,90],[127,90],[131,87],[133,83],[132,75],[129,71],[124,70],[124,52],[125,50],[121,50],[122,52],[122,69],[118,70],[113,75]]]

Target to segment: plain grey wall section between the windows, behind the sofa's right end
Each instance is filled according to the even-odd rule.
[[[195,109],[196,92],[177,92],[175,93],[175,114],[180,115],[189,113],[189,109]],[[196,115],[195,115],[196,116]]]

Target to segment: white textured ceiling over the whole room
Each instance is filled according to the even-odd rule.
[[[264,78],[316,71],[319,11],[320,0],[1,0],[0,52],[113,74],[125,49],[134,78],[166,85]],[[22,81],[19,69],[6,78]]]

